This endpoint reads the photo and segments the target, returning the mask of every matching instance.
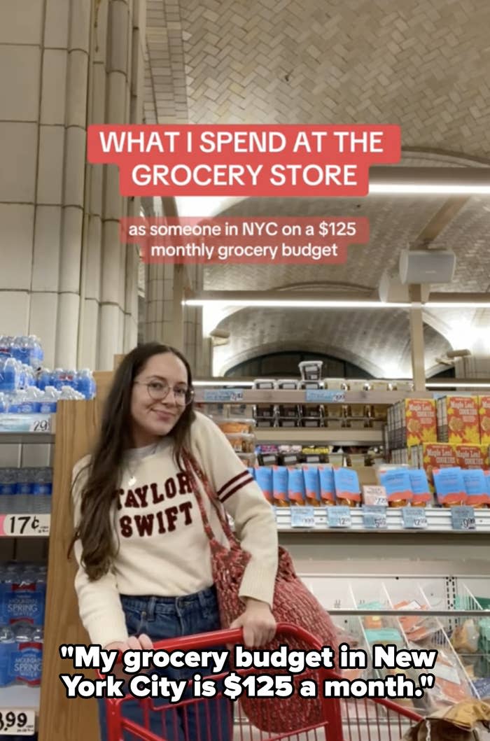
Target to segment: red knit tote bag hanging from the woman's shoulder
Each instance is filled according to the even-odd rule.
[[[189,453],[185,454],[185,468],[191,478],[205,533],[211,546],[211,565],[219,602],[221,625],[222,628],[229,628],[231,623],[244,610],[243,602],[238,593],[245,567],[251,556],[246,551],[242,551],[222,510],[222,505],[216,494],[213,493],[208,477]],[[199,482],[216,508],[222,529],[228,538],[228,548],[222,545],[213,533],[208,516],[205,513]],[[272,611],[277,622],[289,622],[304,628],[314,634],[322,645],[334,648],[337,655],[338,643],[331,617],[301,579],[298,578],[291,556],[282,547],[279,547],[279,566]],[[279,637],[276,637],[262,648],[274,651],[280,645],[284,645],[284,642],[284,639],[279,640]],[[288,639],[288,648],[291,651],[311,650],[311,646],[296,638]],[[267,669],[266,673],[269,675],[281,674],[284,673],[284,670]],[[252,725],[255,725],[260,731],[268,731],[269,733],[291,733],[310,725],[320,724],[322,722],[320,699],[305,699],[297,694],[299,679],[314,679],[316,676],[314,671],[309,671],[295,679],[295,692],[289,698],[244,696],[240,698],[242,711]]]

